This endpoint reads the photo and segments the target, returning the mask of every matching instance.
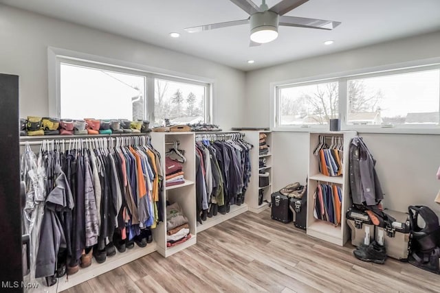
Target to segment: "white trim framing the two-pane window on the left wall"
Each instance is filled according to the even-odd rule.
[[[205,123],[212,124],[212,121],[214,120],[214,117],[212,117],[212,104],[214,102],[213,88],[215,80],[212,78],[150,67],[147,65],[86,54],[68,49],[47,47],[48,110],[51,117],[60,117],[61,114],[60,68],[62,62],[85,67],[91,67],[91,65],[94,65],[94,68],[98,69],[109,71],[115,71],[115,69],[117,69],[118,72],[145,76],[146,107],[148,109],[147,115],[148,119],[151,121],[153,121],[154,118],[154,78],[206,86]]]

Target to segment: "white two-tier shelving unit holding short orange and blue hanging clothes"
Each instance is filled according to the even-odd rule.
[[[342,156],[342,175],[325,176],[319,172],[319,156],[314,155],[314,150],[318,145],[318,137],[322,135],[326,138],[342,137],[344,140],[344,153]],[[338,131],[338,132],[311,132],[309,135],[309,182],[307,189],[307,235],[316,237],[333,244],[343,246],[349,239],[349,231],[345,221],[345,211],[351,206],[349,196],[349,145],[357,132]],[[327,139],[327,143],[330,141]],[[314,194],[316,187],[320,183],[339,185],[342,189],[341,224],[334,226],[329,222],[314,218]]]

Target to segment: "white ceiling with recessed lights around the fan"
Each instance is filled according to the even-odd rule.
[[[257,5],[259,1],[254,0]],[[280,0],[267,0],[272,7]],[[249,26],[187,33],[185,27],[247,19],[228,0],[0,0],[250,71],[283,62],[440,30],[440,0],[309,0],[285,14],[341,21],[333,31],[280,27],[274,42],[249,47]],[[179,32],[180,38],[168,33]],[[333,45],[323,45],[334,40]],[[247,60],[255,60],[249,65]]]

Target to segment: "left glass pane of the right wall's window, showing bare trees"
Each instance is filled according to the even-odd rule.
[[[283,126],[328,124],[338,118],[338,82],[289,86],[279,95]]]

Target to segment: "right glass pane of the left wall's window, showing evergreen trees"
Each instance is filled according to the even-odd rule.
[[[171,124],[196,124],[205,121],[207,86],[155,78],[155,124],[170,119]]]

